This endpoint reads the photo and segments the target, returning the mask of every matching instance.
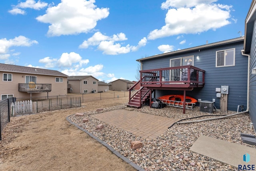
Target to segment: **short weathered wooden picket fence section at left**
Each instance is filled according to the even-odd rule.
[[[15,101],[11,104],[12,116],[36,113],[36,102],[32,100]]]

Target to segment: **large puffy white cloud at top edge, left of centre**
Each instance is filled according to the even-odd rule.
[[[108,17],[108,8],[96,8],[95,0],[61,0],[49,7],[46,14],[38,16],[39,22],[50,23],[48,36],[87,33],[98,20]]]

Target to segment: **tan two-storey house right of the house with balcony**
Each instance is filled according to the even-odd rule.
[[[68,77],[68,92],[70,93],[98,93],[98,79],[93,76]]]

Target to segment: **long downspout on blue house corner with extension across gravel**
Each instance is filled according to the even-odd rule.
[[[196,120],[196,121],[185,121],[185,122],[176,122],[178,124],[182,124],[182,123],[194,123],[194,122],[201,122],[201,121],[211,121],[211,120],[216,120],[216,119],[222,119],[225,117],[230,117],[230,116],[234,116],[234,115],[239,115],[242,113],[247,113],[249,111],[249,89],[250,89],[250,55],[248,54],[244,54],[244,50],[241,50],[242,55],[247,56],[248,57],[248,69],[247,69],[247,103],[246,103],[246,111],[241,111],[241,112],[237,112],[237,113],[233,113],[231,115],[225,115],[222,117],[214,117],[214,118],[208,118],[208,119],[201,119],[201,120]],[[188,118],[190,119],[190,118]],[[170,127],[169,127],[170,128]],[[255,130],[254,130],[255,131]]]

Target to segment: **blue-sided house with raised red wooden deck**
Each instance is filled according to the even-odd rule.
[[[156,97],[185,94],[215,100],[218,109],[216,88],[227,85],[227,109],[236,111],[238,105],[246,109],[248,58],[241,53],[243,46],[244,37],[240,37],[139,59],[141,85],[156,90]]]

